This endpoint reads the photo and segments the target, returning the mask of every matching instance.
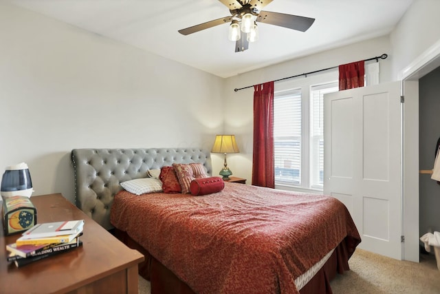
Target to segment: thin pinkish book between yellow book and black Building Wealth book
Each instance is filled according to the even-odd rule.
[[[65,248],[66,245],[77,244],[79,236],[76,237],[69,243],[61,244],[40,244],[40,245],[23,245],[17,246],[16,243],[6,245],[6,250],[10,252],[8,256],[8,262],[14,261],[21,258],[30,258],[37,255],[42,255],[45,253],[50,253],[52,251],[57,251],[59,249]]]

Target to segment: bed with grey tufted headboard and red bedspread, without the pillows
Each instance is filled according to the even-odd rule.
[[[173,164],[201,164],[203,148],[74,149],[76,205],[146,257],[156,293],[331,293],[360,235],[344,205],[318,194],[224,182],[203,196],[135,195],[120,183]]]

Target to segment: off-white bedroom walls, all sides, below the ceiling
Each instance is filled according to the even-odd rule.
[[[228,165],[250,183],[253,88],[234,88],[382,53],[380,80],[395,81],[440,39],[438,11],[440,1],[416,0],[390,36],[222,80],[0,2],[0,169],[27,162],[34,195],[72,199],[73,148],[209,148],[214,134],[230,133],[241,153]],[[212,163],[216,174],[223,156]]]

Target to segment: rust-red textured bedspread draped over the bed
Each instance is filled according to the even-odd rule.
[[[298,293],[294,280],[360,235],[327,196],[225,182],[206,196],[121,191],[111,223],[196,293]]]

